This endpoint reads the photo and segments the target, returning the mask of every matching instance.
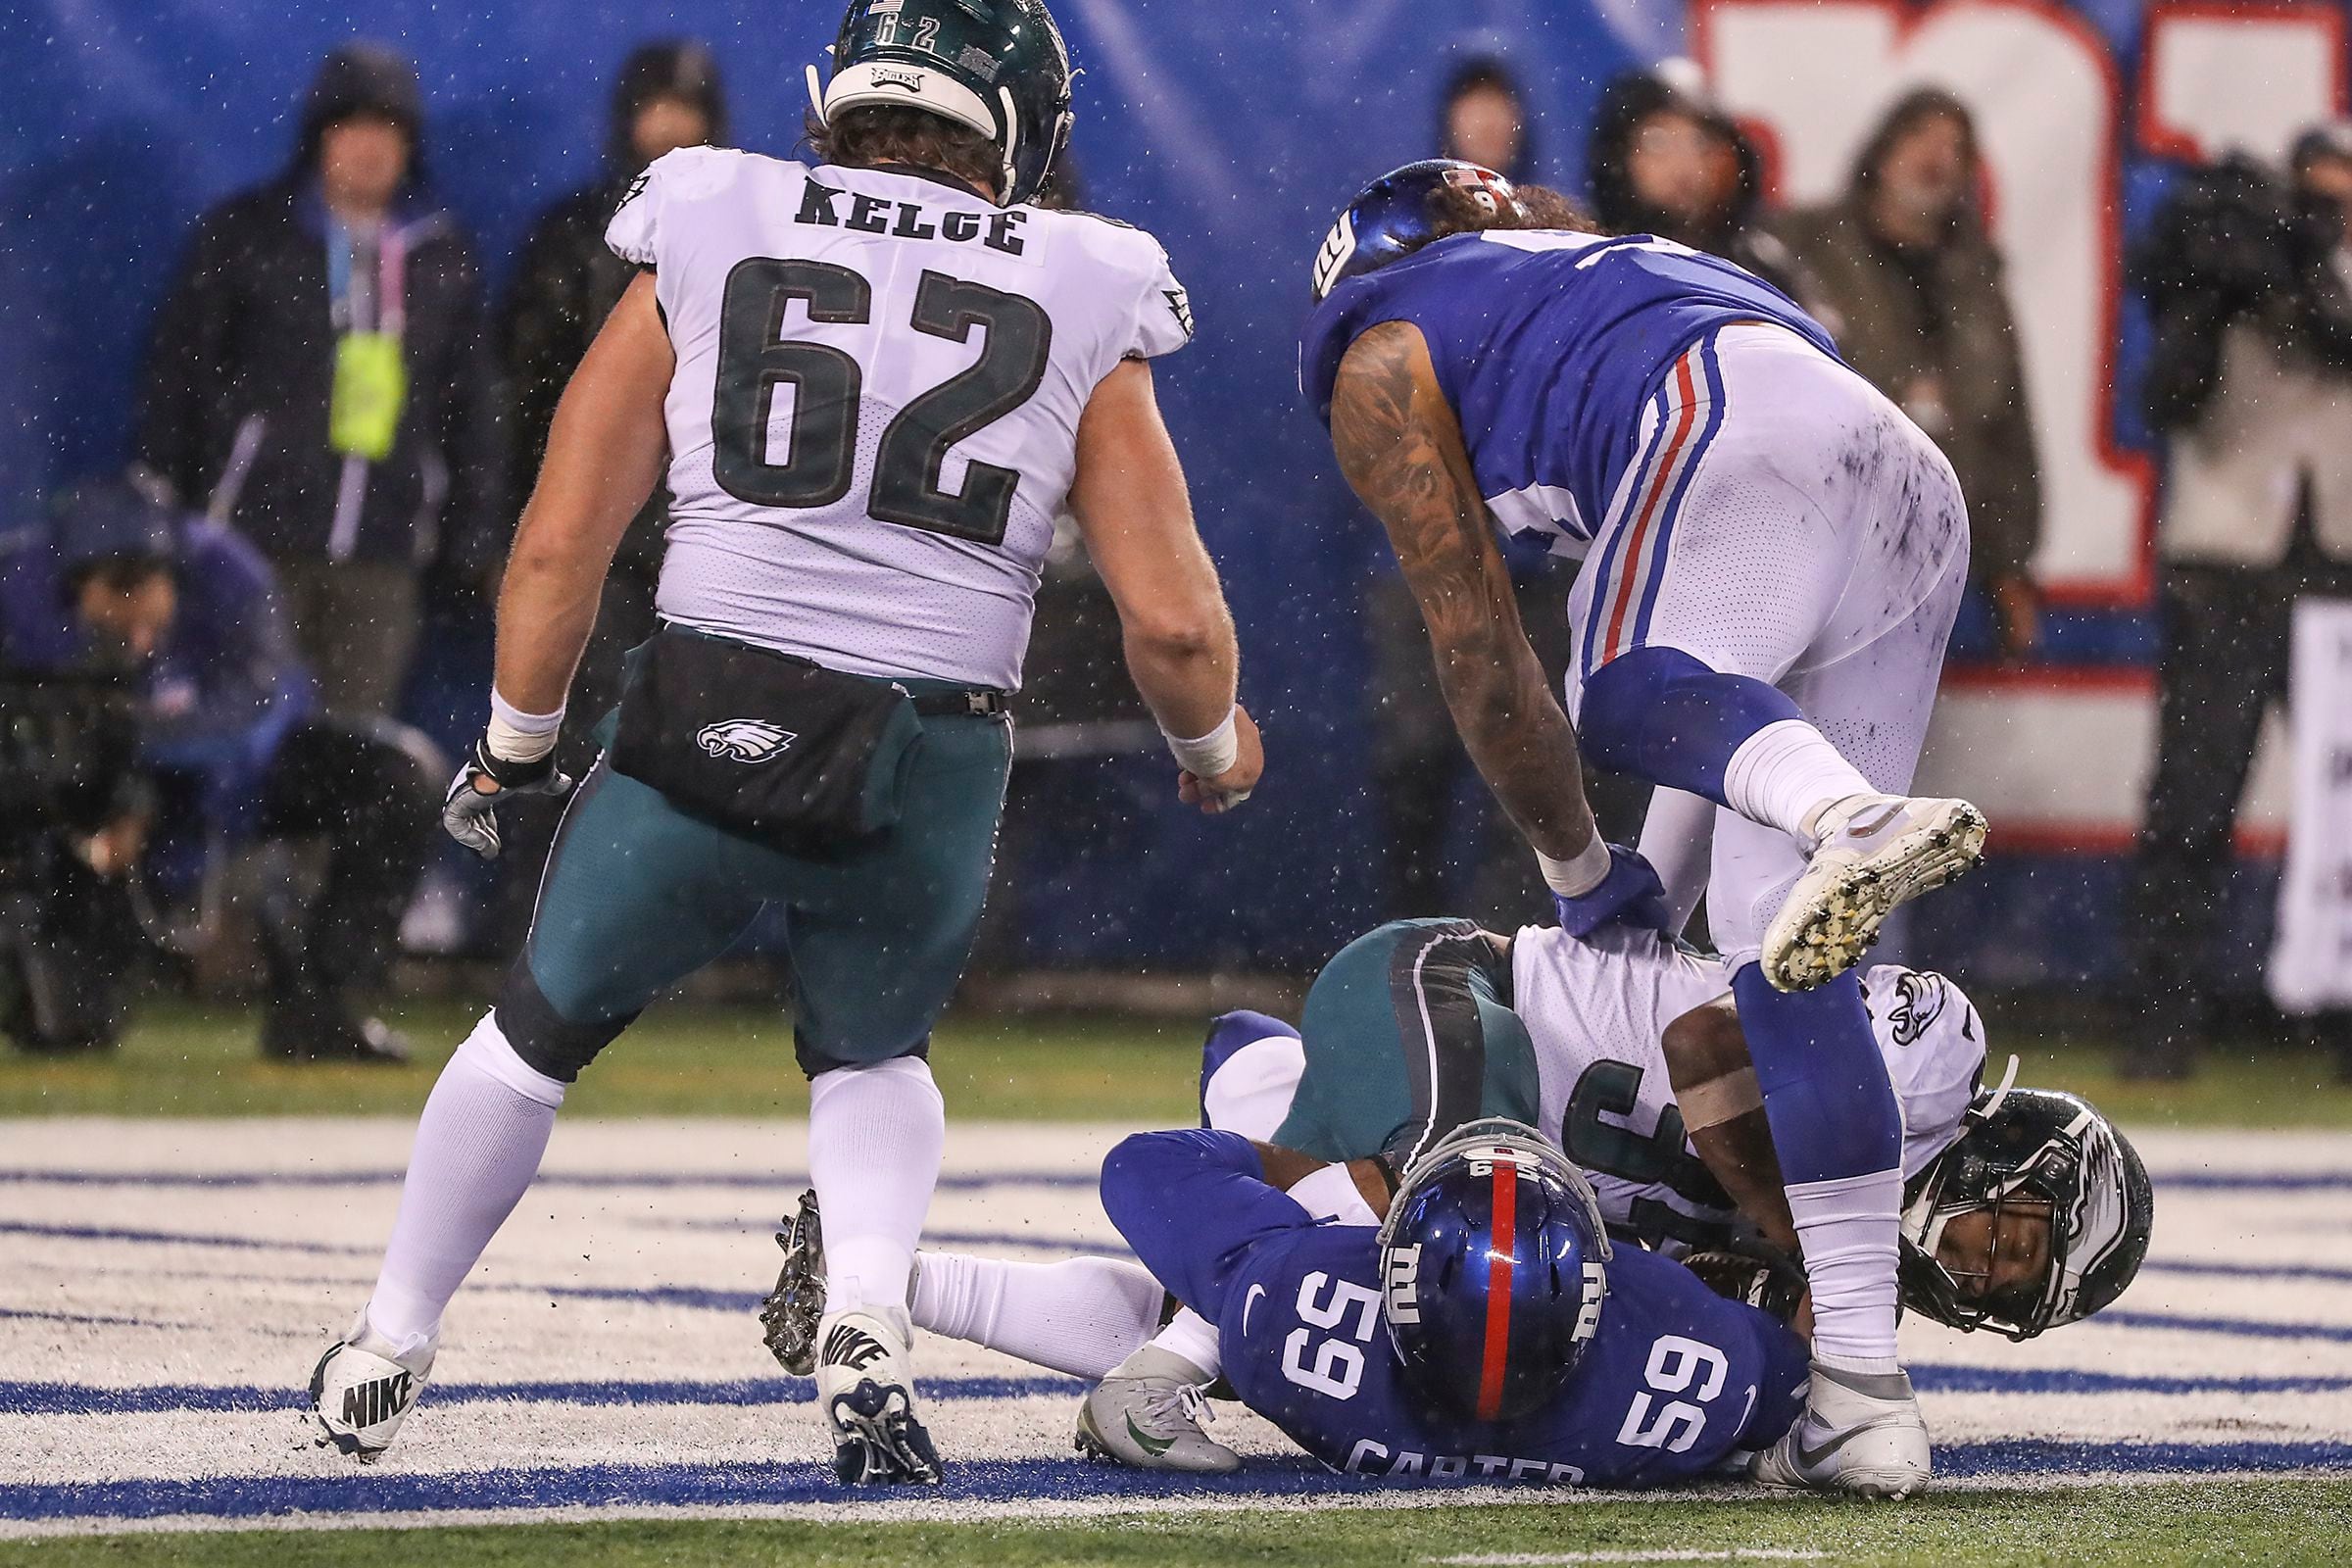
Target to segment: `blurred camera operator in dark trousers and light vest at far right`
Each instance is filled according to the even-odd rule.
[[[2131,275],[2154,315],[2164,435],[2157,771],[2129,903],[2124,1072],[2185,1077],[2216,1027],[2209,943],[2293,604],[2352,592],[2352,122],[2183,179]],[[2319,1020],[2352,1070],[2352,1018]]]

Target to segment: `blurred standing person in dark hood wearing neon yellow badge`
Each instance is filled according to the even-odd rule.
[[[198,221],[139,402],[139,461],[268,555],[348,715],[397,701],[426,569],[499,548],[480,277],[421,134],[402,56],[327,56],[287,172]]]

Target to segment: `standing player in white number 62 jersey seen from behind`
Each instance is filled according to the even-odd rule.
[[[445,825],[496,853],[550,752],[614,545],[668,482],[661,632],[557,835],[532,938],[426,1105],[313,1406],[362,1460],[581,1067],[786,914],[833,1225],[816,1356],[844,1481],[938,1481],[906,1314],[946,1135],[924,1053],[981,912],[1037,569],[1075,512],[1178,795],[1249,797],[1232,621],[1148,362],[1192,334],[1150,235],[1030,205],[1070,129],[1042,0],[854,0],[816,165],[687,148],[612,219],[642,268],[574,374],[499,599],[489,726]],[[590,715],[593,719],[593,715]]]

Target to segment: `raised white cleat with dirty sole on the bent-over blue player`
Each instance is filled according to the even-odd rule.
[[[1799,992],[1863,961],[1879,926],[1919,893],[1969,875],[1985,813],[1964,799],[1853,795],[1830,806],[1804,877],[1764,929],[1764,978]]]

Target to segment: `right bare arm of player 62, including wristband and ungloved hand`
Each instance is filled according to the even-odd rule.
[[[1120,609],[1127,672],[1160,729],[1185,741],[1232,719],[1232,762],[1209,776],[1185,771],[1181,783],[1188,804],[1225,811],[1256,788],[1265,752],[1256,722],[1235,703],[1242,656],[1232,614],[1192,527],[1183,465],[1143,360],[1124,360],[1087,402],[1070,510]]]

